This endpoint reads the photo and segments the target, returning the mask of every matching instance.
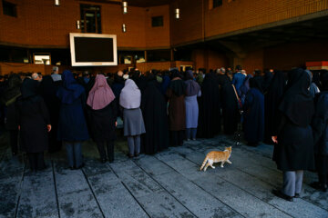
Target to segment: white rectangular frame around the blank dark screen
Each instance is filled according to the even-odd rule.
[[[112,62],[76,62],[75,40],[74,37],[87,38],[112,38],[113,39],[113,61]],[[69,34],[69,44],[71,53],[72,66],[99,66],[99,65],[118,65],[118,46],[117,35],[103,35],[103,34]]]

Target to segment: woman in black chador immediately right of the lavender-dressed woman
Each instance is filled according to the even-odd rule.
[[[200,118],[198,136],[211,138],[220,132],[220,89],[216,74],[205,75],[199,101]]]

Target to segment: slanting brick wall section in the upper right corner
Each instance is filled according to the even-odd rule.
[[[221,35],[328,9],[327,0],[235,0],[209,9],[205,0],[205,35]]]

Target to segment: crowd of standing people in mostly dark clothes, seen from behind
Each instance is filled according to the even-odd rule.
[[[237,66],[234,73],[222,67],[208,73],[136,69],[92,76],[58,74],[54,67],[51,75],[10,74],[1,80],[1,115],[12,153],[19,147],[34,171],[45,168],[46,151],[59,151],[62,144],[68,166],[83,167],[81,143],[89,138],[100,161],[113,162],[118,117],[129,158],[220,132],[235,134],[242,123],[250,146],[274,144],[283,185],[273,193],[292,201],[301,193],[303,171],[314,169],[319,181],[313,187],[327,189],[328,72],[294,68],[246,74]]]

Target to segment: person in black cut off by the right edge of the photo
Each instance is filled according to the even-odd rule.
[[[313,139],[315,166],[319,182],[312,183],[313,188],[327,191],[328,186],[328,72],[321,74],[322,93],[315,98],[313,117]]]

